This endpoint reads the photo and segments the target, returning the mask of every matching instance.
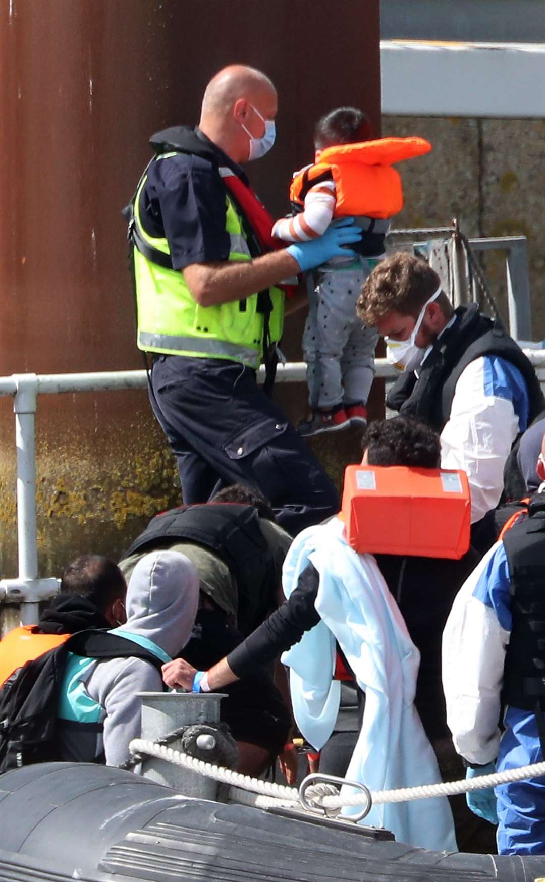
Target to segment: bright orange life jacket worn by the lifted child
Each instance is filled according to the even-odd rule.
[[[390,218],[403,207],[401,178],[392,162],[430,150],[431,145],[424,138],[379,138],[327,147],[316,165],[295,175],[289,198],[294,206],[300,207],[310,187],[332,180],[336,194],[333,217]]]

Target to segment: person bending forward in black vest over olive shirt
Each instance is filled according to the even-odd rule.
[[[178,551],[189,558],[200,591],[195,630],[183,654],[198,668],[209,668],[281,602],[281,569],[290,544],[291,537],[274,522],[269,501],[252,487],[234,484],[205,505],[181,506],[153,518],[120,567],[130,579],[138,561],[152,550]],[[279,674],[279,685],[285,687],[283,669]],[[287,688],[283,691],[287,694]],[[285,703],[268,671],[258,671],[226,692],[221,719],[238,744],[239,769],[260,774],[284,751],[291,723]]]

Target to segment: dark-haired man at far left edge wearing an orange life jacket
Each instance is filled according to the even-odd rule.
[[[14,628],[0,641],[0,685],[71,634],[123,624],[126,591],[123,572],[113,561],[101,555],[77,557],[64,570],[60,592],[38,624]]]

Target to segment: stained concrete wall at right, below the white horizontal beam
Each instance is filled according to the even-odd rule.
[[[399,164],[405,208],[394,227],[444,226],[468,236],[526,235],[534,339],[545,337],[545,120],[384,116],[383,135],[421,135],[427,156]],[[506,318],[504,256],[483,266]]]

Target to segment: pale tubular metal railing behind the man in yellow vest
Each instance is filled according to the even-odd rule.
[[[544,349],[525,349],[536,369],[545,369]],[[385,358],[377,358],[377,377],[397,376]],[[541,370],[539,371],[541,373]],[[296,383],[305,378],[302,362],[279,366],[278,383]],[[538,374],[539,375],[539,374]],[[540,377],[541,378],[541,377]],[[13,374],[0,377],[0,395],[13,397],[15,444],[17,447],[17,542],[18,578],[0,580],[0,602],[21,606],[21,623],[38,621],[38,604],[58,589],[58,579],[38,575],[36,515],[35,415],[38,396],[63,392],[112,392],[146,387],[146,370],[109,370],[74,374]]]

